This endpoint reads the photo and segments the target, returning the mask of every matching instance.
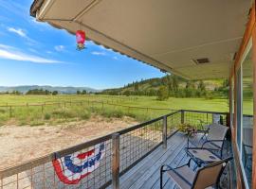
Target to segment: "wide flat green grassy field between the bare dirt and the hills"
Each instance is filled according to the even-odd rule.
[[[155,96],[114,95],[0,95],[0,125],[56,125],[80,121],[92,115],[104,117],[130,116],[142,122],[171,110],[228,112],[228,99],[169,98],[158,101]],[[250,112],[252,102],[244,104]],[[163,110],[154,110],[163,109]]]

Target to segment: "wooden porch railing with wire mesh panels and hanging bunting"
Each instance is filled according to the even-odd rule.
[[[111,183],[113,188],[118,188],[119,177],[156,147],[166,147],[167,139],[174,135],[181,123],[200,127],[222,119],[226,125],[226,118],[227,113],[223,112],[171,112],[81,145],[0,170],[0,188],[105,188]],[[81,166],[75,164],[73,172],[68,172],[70,160],[82,165],[83,171],[80,172]]]

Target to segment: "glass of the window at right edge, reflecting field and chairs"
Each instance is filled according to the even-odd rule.
[[[252,127],[253,127],[253,69],[252,52],[243,62],[243,139],[242,161],[250,185],[252,171]]]

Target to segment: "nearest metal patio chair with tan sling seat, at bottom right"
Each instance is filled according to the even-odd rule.
[[[221,175],[232,158],[229,157],[215,163],[210,163],[196,172],[192,171],[189,163],[172,168],[162,165],[160,169],[160,188],[163,188],[163,173],[174,180],[181,189],[205,189],[218,188]]]

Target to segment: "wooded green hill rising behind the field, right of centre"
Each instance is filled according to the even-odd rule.
[[[134,81],[120,88],[106,89],[101,94],[157,95],[161,87],[166,87],[170,96],[205,97],[207,95],[223,95],[223,92],[224,95],[227,95],[228,86],[225,81],[225,79],[187,80],[183,77],[167,75]]]

